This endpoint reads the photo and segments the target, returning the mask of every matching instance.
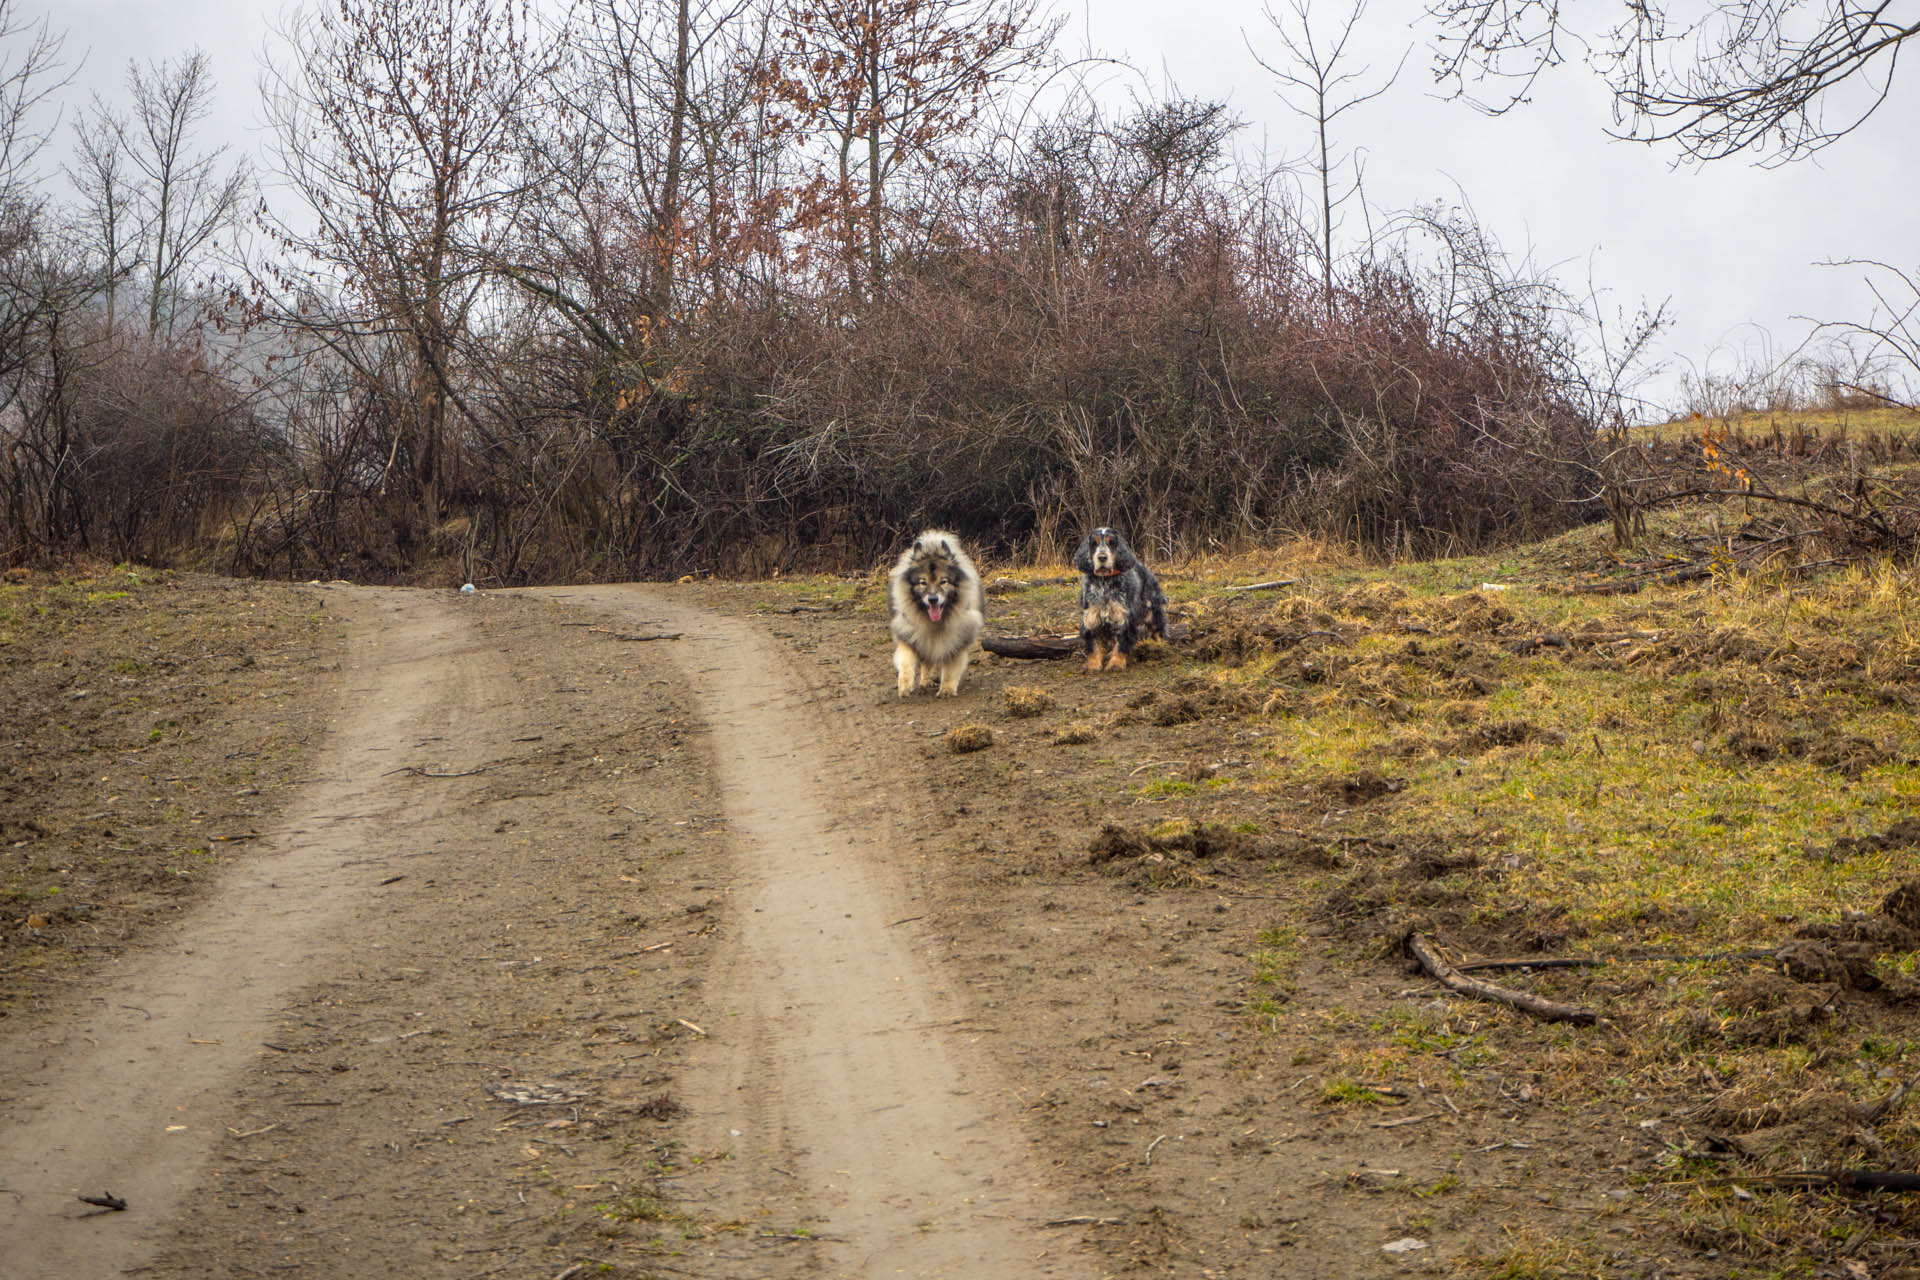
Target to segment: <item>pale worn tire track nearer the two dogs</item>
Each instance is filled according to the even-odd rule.
[[[964,1009],[897,927],[889,833],[845,818],[835,773],[852,770],[776,643],[670,589],[553,595],[680,631],[712,733],[737,871],[735,931],[705,984],[722,1017],[684,1077],[695,1150],[732,1157],[705,1163],[707,1211],[828,1238],[828,1274],[1079,1274],[1037,1230],[1056,1213],[995,1113],[1008,1094],[958,1044]],[[906,821],[933,835],[947,816],[922,800]]]

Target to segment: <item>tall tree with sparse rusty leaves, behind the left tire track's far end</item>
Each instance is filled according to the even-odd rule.
[[[428,520],[453,461],[459,342],[524,192],[513,121],[551,69],[536,31],[530,0],[340,0],[292,19],[265,71],[275,161],[305,205],[276,234],[338,297],[282,313],[388,397],[382,484],[397,468]]]

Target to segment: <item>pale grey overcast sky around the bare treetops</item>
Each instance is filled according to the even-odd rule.
[[[1321,0],[1331,13],[1336,6]],[[33,12],[35,0],[23,4]],[[1578,8],[1578,6],[1574,6]],[[236,150],[255,150],[259,50],[278,15],[257,0],[65,0],[44,12],[67,33],[69,67],[81,58],[69,104],[88,92],[123,98],[131,58],[173,58],[204,48],[219,81],[219,109],[207,125]],[[1125,58],[1144,71],[1142,90],[1165,83],[1187,94],[1225,98],[1248,121],[1244,142],[1273,155],[1304,154],[1306,125],[1286,113],[1271,77],[1246,50],[1242,31],[1271,58],[1273,33],[1254,0],[1062,0],[1069,17],[1064,52]],[[1409,40],[1421,40],[1417,0],[1375,0],[1367,13],[1371,61],[1390,71]],[[1741,159],[1676,169],[1674,154],[1615,142],[1605,134],[1609,100],[1580,67],[1563,67],[1534,88],[1534,100],[1490,119],[1434,96],[1428,54],[1417,42],[1398,84],[1340,123],[1340,142],[1365,152],[1367,198],[1382,209],[1465,192],[1480,221],[1513,251],[1532,251],[1563,282],[1588,276],[1611,307],[1672,299],[1665,349],[1674,372],[1686,361],[1730,372],[1740,349],[1770,334],[1788,349],[1807,332],[1795,317],[1860,319],[1872,299],[1860,271],[1818,267],[1828,259],[1885,259],[1920,267],[1920,67],[1860,132],[1816,159],[1759,169]],[[1112,77],[1121,92],[1125,77]],[[71,111],[69,111],[71,115]],[[63,154],[67,134],[56,138]]]

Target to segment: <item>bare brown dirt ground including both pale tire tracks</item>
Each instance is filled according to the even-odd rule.
[[[1390,777],[1148,802],[1263,729],[1165,651],[900,700],[877,608],[169,578],[15,618],[0,1274],[1726,1272],[1651,1205],[1672,1107],[1553,1084],[1619,1027],[1453,1000],[1329,906],[1367,858],[1446,883],[1338,835]]]

